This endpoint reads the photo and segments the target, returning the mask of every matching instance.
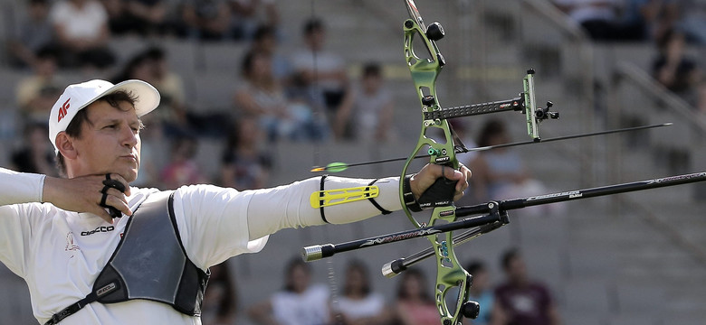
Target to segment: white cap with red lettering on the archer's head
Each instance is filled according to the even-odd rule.
[[[138,98],[135,101],[135,112],[138,116],[148,114],[159,105],[157,89],[142,80],[126,80],[113,85],[106,80],[94,79],[70,85],[54,103],[52,113],[49,115],[49,140],[52,141],[54,149],[57,149],[56,135],[66,131],[76,113],[91,105],[96,99],[119,90],[127,91],[131,96]]]

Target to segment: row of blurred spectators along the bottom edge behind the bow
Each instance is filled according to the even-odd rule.
[[[530,277],[524,258],[516,248],[500,258],[502,279],[492,278],[482,260],[464,265],[472,274],[469,301],[479,302],[481,311],[465,325],[558,325],[557,304],[546,284]],[[433,278],[417,268],[401,274],[396,292],[378,292],[372,286],[367,265],[350,260],[340,288],[312,281],[310,266],[295,256],[284,267],[282,288],[269,298],[244,308],[246,316],[260,325],[438,325],[440,316],[430,291]],[[227,264],[212,268],[205,295],[205,325],[237,322],[237,285]],[[452,291],[453,292],[453,291]],[[455,303],[450,292],[450,308]],[[390,292],[392,293],[392,292]],[[391,298],[391,299],[390,299]],[[228,303],[231,302],[231,303]]]

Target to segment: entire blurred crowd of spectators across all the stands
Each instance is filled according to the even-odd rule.
[[[706,113],[706,78],[687,45],[706,45],[706,2],[696,0],[553,0],[568,19],[595,42],[653,43],[654,79]],[[145,116],[142,170],[134,185],[162,189],[211,182],[238,190],[270,186],[274,165],[269,148],[278,142],[394,142],[394,100],[386,88],[384,67],[364,64],[358,77],[326,47],[327,26],[310,19],[298,26],[301,44],[284,55],[274,0],[26,0],[6,40],[8,69],[24,71],[15,105],[0,107],[0,138],[23,137],[13,145],[10,165],[20,172],[56,175],[47,118],[67,86],[65,74],[84,79],[143,79],[162,96],[155,113]],[[286,26],[292,28],[291,26]],[[178,55],[158,45],[120,61],[108,46],[117,37],[144,40],[173,38],[185,42],[237,42],[242,80],[229,109],[189,107],[182,76],[168,64]],[[158,42],[154,42],[157,44]],[[205,113],[206,112],[206,113]],[[6,123],[16,116],[20,124]],[[13,121],[10,118],[9,121]],[[501,121],[479,128],[454,127],[468,147],[510,141]],[[219,168],[205,172],[196,163],[199,140],[223,144],[214,157]],[[465,200],[480,202],[544,191],[510,150],[469,154],[472,190]],[[529,195],[529,194],[528,194]],[[553,208],[549,208],[553,209]],[[536,214],[551,210],[535,211]],[[553,299],[545,286],[530,281],[517,251],[501,258],[506,279],[493,287],[480,261],[469,263],[473,299],[482,302],[481,317],[469,324],[557,324]],[[211,269],[204,324],[233,324],[238,311],[237,285],[227,265]],[[367,266],[351,262],[338,297],[326,285],[310,282],[307,265],[292,261],[281,292],[246,312],[261,324],[438,324],[425,274],[405,272],[395,302],[370,287]]]

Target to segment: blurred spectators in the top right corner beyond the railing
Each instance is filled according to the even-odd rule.
[[[651,42],[650,70],[665,88],[706,114],[706,77],[686,45],[706,46],[706,2],[699,0],[552,0],[595,42]]]

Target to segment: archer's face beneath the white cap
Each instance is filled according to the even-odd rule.
[[[137,179],[141,123],[128,102],[119,102],[119,107],[100,100],[84,108],[88,122],[73,139],[78,154],[74,176],[114,172],[129,182]]]

